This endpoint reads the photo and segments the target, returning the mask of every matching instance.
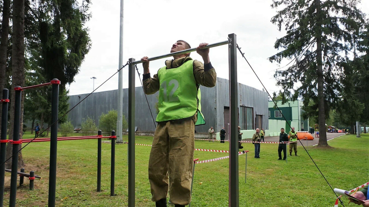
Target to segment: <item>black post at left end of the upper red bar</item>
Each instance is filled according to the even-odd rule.
[[[17,177],[18,177],[18,150],[21,121],[21,96],[22,88],[14,88],[14,130],[13,130],[13,157],[11,159],[11,180],[10,180],[10,198],[9,207],[15,207],[15,198],[17,196]]]

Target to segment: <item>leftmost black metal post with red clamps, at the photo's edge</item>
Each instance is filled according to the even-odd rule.
[[[8,126],[8,94],[7,88],[3,89],[3,97],[1,102],[3,103],[3,109],[1,112],[1,141],[0,141],[0,162],[4,163],[6,160],[6,132]],[[3,207],[4,203],[4,178],[5,178],[5,164],[0,166],[0,207]]]

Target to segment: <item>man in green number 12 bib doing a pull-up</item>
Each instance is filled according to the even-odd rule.
[[[166,207],[169,192],[175,207],[191,202],[191,182],[194,154],[194,127],[205,124],[201,113],[200,85],[214,87],[217,74],[209,59],[209,49],[201,43],[196,52],[204,64],[193,60],[190,53],[173,56],[151,78],[148,57],[142,57],[145,94],[159,91],[156,116],[158,126],[149,158],[149,181],[152,201],[156,207]],[[189,43],[179,40],[170,52],[190,49]]]

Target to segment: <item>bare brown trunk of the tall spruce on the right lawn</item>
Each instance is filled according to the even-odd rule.
[[[317,6],[317,21],[320,18],[320,0],[315,1]],[[323,79],[323,63],[322,63],[322,34],[321,23],[318,24],[317,31],[317,74],[318,74],[318,124],[319,124],[319,146],[326,146],[327,131],[325,130],[325,109],[324,109],[324,79]]]

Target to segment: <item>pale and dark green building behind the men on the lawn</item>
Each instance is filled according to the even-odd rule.
[[[302,117],[302,101],[289,101],[282,104],[282,101],[276,101],[277,107],[273,101],[268,102],[268,117],[269,117],[269,136],[278,136],[280,128],[284,128],[285,131],[289,132],[292,127],[295,127],[295,131],[308,131],[309,130],[309,119],[303,119]],[[284,120],[286,118],[287,122]]]

